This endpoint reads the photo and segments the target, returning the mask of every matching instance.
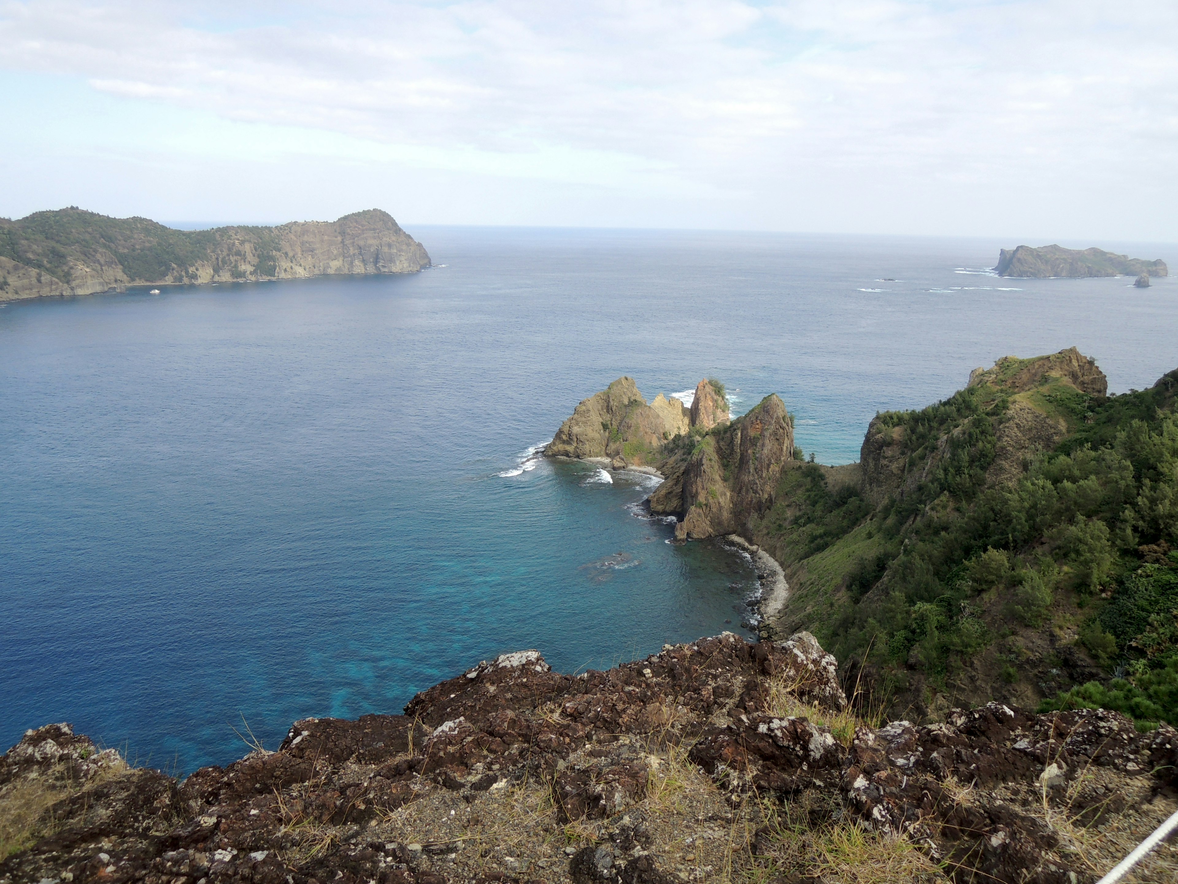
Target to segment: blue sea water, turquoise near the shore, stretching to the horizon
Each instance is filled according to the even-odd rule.
[[[747,565],[666,543],[650,480],[521,469],[622,374],[777,392],[842,463],[1006,354],[1076,344],[1113,390],[1178,365],[1171,279],[974,272],[1013,240],[412,232],[443,266],[0,309],[0,744],[70,720],[191,771],[245,751],[243,717],[274,747],[505,651],[574,671],[740,632]]]

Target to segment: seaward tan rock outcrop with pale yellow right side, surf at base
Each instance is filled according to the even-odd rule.
[[[549,457],[605,457],[623,466],[648,466],[663,443],[688,429],[683,403],[666,398],[647,401],[633,377],[620,377],[573,411],[544,449]]]

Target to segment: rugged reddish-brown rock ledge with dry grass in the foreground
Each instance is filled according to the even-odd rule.
[[[578,677],[528,651],[404,715],[298,721],[277,752],[183,784],[66,726],[29,731],[0,759],[0,813],[45,784],[55,800],[0,882],[841,880],[842,862],[846,879],[851,863],[875,880],[1070,884],[1173,811],[1176,761],[1172,728],[1107,712],[856,725],[807,634],[724,634]],[[862,852],[822,852],[830,838]],[[1170,879],[1171,858],[1138,879]]]

